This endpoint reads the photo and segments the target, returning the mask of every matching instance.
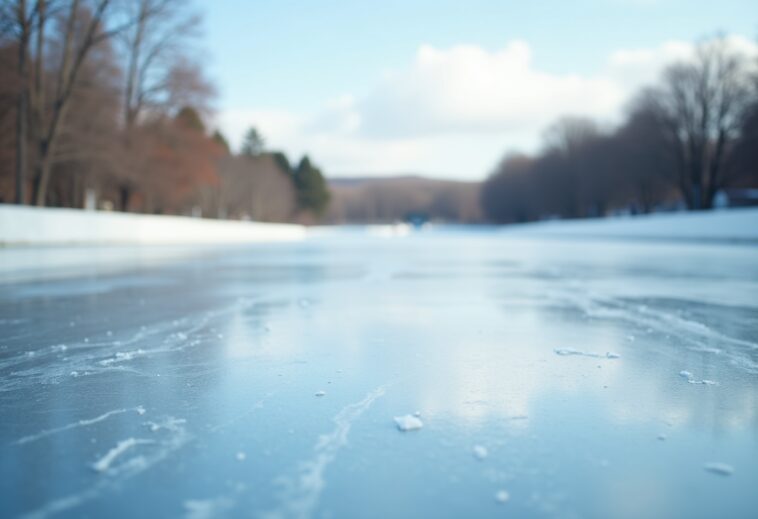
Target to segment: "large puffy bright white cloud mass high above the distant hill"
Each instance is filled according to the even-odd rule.
[[[607,78],[535,69],[529,46],[514,41],[496,52],[424,45],[408,70],[385,79],[357,108],[363,134],[407,137],[533,129],[567,107],[602,116],[622,101],[623,90]]]

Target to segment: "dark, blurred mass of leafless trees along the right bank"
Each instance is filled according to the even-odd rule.
[[[564,117],[534,155],[507,155],[485,181],[493,222],[710,209],[717,193],[758,187],[756,63],[718,37],[642,89],[622,124]]]

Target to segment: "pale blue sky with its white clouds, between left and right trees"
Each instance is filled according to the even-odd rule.
[[[752,52],[752,4],[217,0],[202,8],[217,124],[233,143],[255,125],[272,148],[293,159],[309,153],[333,176],[476,179],[506,151],[537,147],[564,112],[611,124],[634,88],[700,37],[740,36]],[[530,109],[521,108],[525,98]]]

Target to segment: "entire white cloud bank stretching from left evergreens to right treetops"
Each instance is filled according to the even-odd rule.
[[[751,40],[734,48],[758,56]],[[311,113],[222,112],[219,124],[239,144],[251,124],[270,147],[295,160],[308,153],[327,174],[422,173],[482,178],[509,149],[531,150],[562,115],[614,122],[629,97],[693,45],[619,49],[591,75],[539,70],[523,41],[491,52],[475,45],[422,45],[410,66],[385,74],[365,95],[342,95]]]

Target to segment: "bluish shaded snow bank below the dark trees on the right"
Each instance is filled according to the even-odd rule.
[[[758,242],[758,208],[555,220],[512,225],[503,232],[529,236]]]

